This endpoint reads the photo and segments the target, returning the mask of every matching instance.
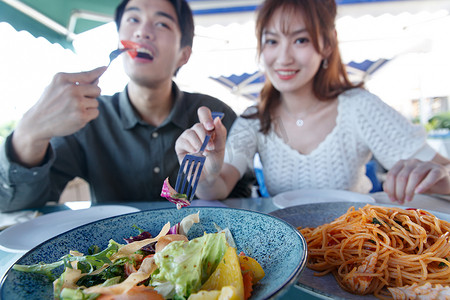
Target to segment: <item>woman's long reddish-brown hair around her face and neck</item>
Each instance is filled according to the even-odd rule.
[[[328,67],[321,66],[314,76],[313,92],[319,100],[331,100],[342,92],[356,87],[348,79],[339,53],[336,31],[336,3],[335,0],[266,0],[258,10],[256,19],[256,37],[258,39],[258,56],[263,48],[264,29],[269,24],[274,13],[282,10],[282,15],[292,16],[293,12],[300,12],[305,20],[314,48],[317,52],[330,49]],[[323,41],[321,49],[320,42]],[[359,84],[357,86],[362,86]],[[271,127],[271,112],[280,103],[280,92],[266,79],[260,93],[258,112],[249,118],[258,118],[261,122],[260,131],[267,134]]]

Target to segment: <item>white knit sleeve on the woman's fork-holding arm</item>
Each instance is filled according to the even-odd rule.
[[[257,151],[257,120],[238,117],[228,134],[224,162],[234,166],[240,173],[253,168]]]

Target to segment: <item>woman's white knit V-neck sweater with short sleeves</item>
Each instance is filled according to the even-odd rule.
[[[336,127],[310,154],[292,149],[273,130],[263,135],[259,120],[239,117],[229,133],[225,162],[242,176],[258,152],[270,195],[306,188],[367,193],[372,183],[365,165],[372,154],[386,169],[400,159],[426,161],[436,154],[422,126],[368,91],[352,89],[338,101]]]

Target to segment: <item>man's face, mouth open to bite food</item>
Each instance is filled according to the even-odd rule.
[[[191,53],[190,47],[180,49],[177,14],[167,0],[130,0],[121,20],[119,39],[141,46],[137,57],[124,56],[125,72],[132,81],[148,87],[171,80]]]

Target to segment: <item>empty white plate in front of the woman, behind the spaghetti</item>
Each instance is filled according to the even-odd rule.
[[[284,192],[273,197],[273,204],[279,208],[321,202],[375,202],[366,194],[342,190],[302,189]]]

